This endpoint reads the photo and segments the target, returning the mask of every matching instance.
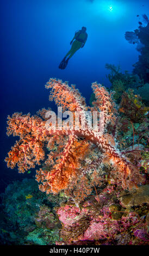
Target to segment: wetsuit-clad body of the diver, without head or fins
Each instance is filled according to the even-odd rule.
[[[80,33],[80,31],[78,31],[75,35],[74,38],[72,39],[72,41],[74,39],[76,39],[71,46],[70,51],[66,54],[65,57],[69,56],[69,59],[73,56],[73,54],[79,50],[79,48],[82,46],[82,44],[85,44],[86,40],[88,38],[88,34],[87,33]]]

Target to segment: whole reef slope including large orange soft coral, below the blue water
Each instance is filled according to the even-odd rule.
[[[95,100],[91,107],[67,82],[51,78],[46,88],[51,89],[49,100],[60,107],[61,115],[41,109],[32,117],[22,113],[8,117],[8,136],[20,140],[5,161],[22,173],[41,165],[36,180],[46,193],[30,180],[8,186],[2,205],[3,241],[147,245],[148,107],[133,89],[123,92],[116,106],[113,92],[96,82],[92,83]],[[89,111],[97,117],[103,112],[103,133],[100,119],[97,129],[89,126]],[[76,118],[78,112],[83,118]],[[64,113],[73,121],[63,120]]]

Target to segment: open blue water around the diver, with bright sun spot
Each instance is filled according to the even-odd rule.
[[[76,84],[89,102],[92,82],[110,87],[105,63],[120,64],[122,71],[131,72],[139,53],[124,35],[138,27],[142,14],[149,14],[149,3],[146,0],[3,0],[0,4],[3,191],[12,180],[24,178],[17,170],[8,169],[4,162],[16,140],[5,135],[7,115],[35,114],[42,107],[52,107],[44,88],[51,77]],[[88,33],[85,46],[74,54],[65,70],[58,69],[70,50],[74,32],[82,26]]]

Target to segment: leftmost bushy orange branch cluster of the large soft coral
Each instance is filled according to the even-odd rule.
[[[7,123],[7,135],[20,137],[20,141],[16,141],[5,159],[7,166],[14,168],[17,164],[20,173],[35,168],[35,164],[40,164],[45,157],[44,122],[39,117],[30,117],[30,114],[14,113],[11,118],[8,116]]]

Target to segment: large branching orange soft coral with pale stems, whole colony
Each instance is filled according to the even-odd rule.
[[[54,100],[57,106],[62,107],[63,112],[71,111],[74,118],[76,112],[89,110],[84,97],[73,85],[70,87],[67,82],[63,83],[61,80],[51,78],[46,88],[51,89],[49,100]],[[102,111],[103,134],[100,131],[99,121],[98,129],[95,130],[90,129],[85,118],[84,129],[79,120],[77,127],[73,123],[71,129],[66,129],[67,125],[60,128],[49,125],[47,129],[45,125],[47,120],[43,118],[46,109],[42,109],[33,117],[30,117],[30,114],[15,113],[12,117],[8,117],[7,134],[19,136],[20,141],[16,142],[5,159],[8,167],[14,168],[17,164],[19,172],[24,172],[44,160],[46,168],[36,171],[36,180],[41,183],[40,190],[57,193],[66,189],[78,175],[81,176],[81,161],[89,153],[90,144],[93,143],[101,151],[99,163],[104,159],[104,163],[108,162],[113,166],[111,174],[117,184],[123,188],[132,188],[141,182],[142,176],[139,170],[120,153],[115,146],[114,138],[107,132],[107,125],[114,124],[116,115],[111,94],[96,82],[92,83],[92,89],[96,101],[92,103],[90,111],[91,113],[96,111],[98,114]],[[57,150],[53,150],[55,144]],[[50,150],[47,155],[45,146]]]

